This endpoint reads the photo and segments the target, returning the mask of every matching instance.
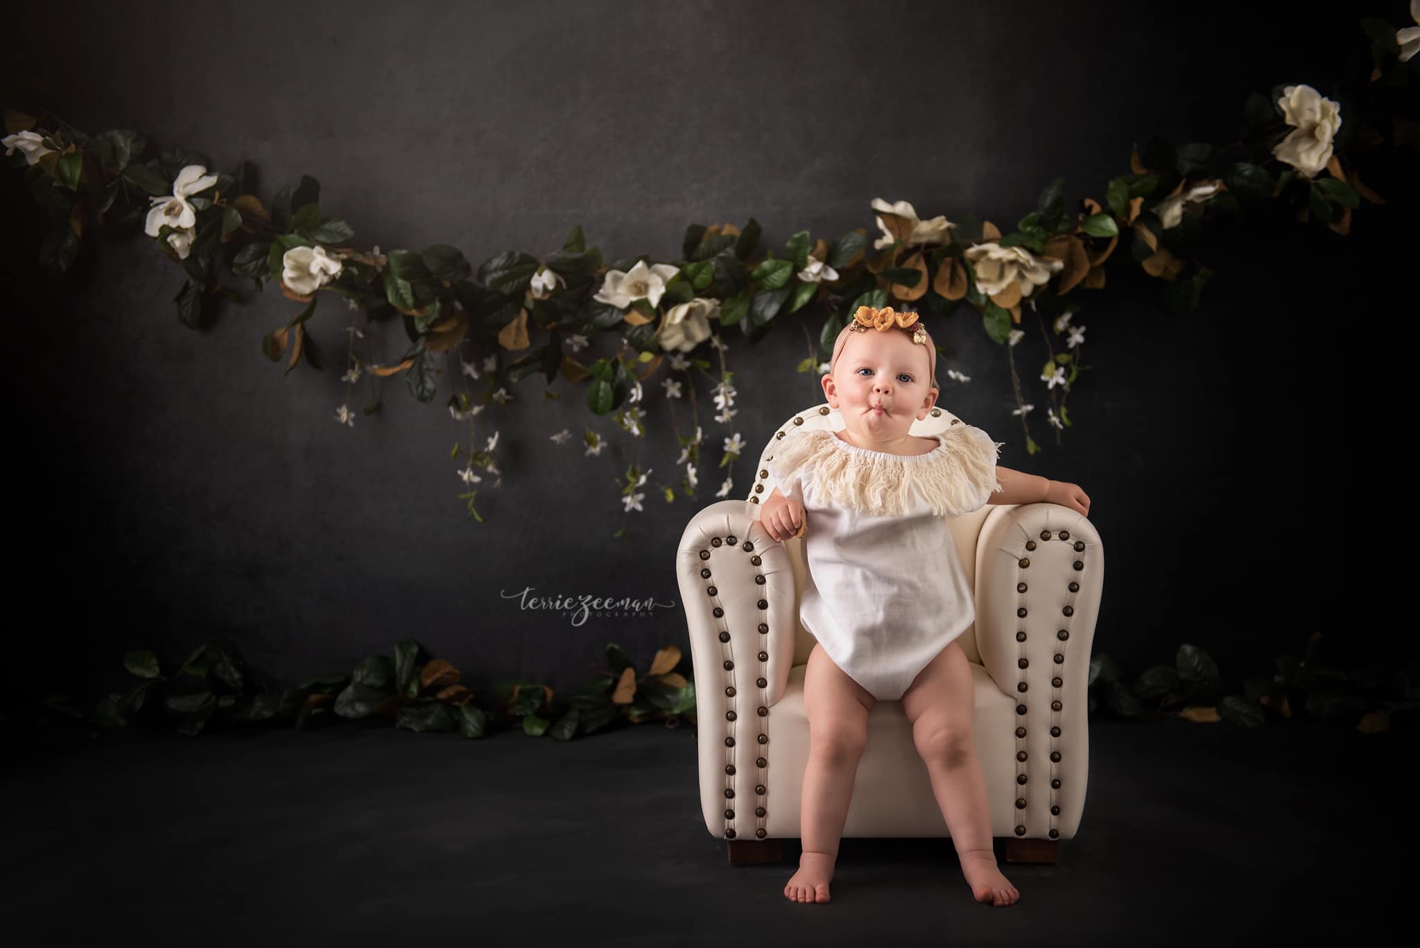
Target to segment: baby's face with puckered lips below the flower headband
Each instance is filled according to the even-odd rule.
[[[927,358],[927,347],[899,330],[853,333],[824,377],[824,395],[855,433],[872,441],[903,436],[937,399]]]

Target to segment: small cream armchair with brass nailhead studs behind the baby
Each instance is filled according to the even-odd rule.
[[[961,424],[933,408],[912,433]],[[801,540],[777,543],[755,505],[767,465],[795,425],[842,431],[826,404],[787,419],[760,452],[747,500],[711,503],[680,537],[676,574],[690,627],[700,809],[731,864],[777,861],[799,836],[808,760],[804,669],[814,638],[798,621]],[[976,677],[973,733],[1005,858],[1054,863],[1075,836],[1089,772],[1089,651],[1105,578],[1088,519],[1054,503],[987,505],[949,519],[976,591],[958,640]],[[950,836],[902,702],[868,715],[845,837]]]

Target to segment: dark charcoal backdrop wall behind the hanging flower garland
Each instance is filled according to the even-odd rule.
[[[1404,23],[1404,6],[1389,7]],[[314,175],[322,209],[354,223],[355,243],[447,242],[476,264],[507,249],[552,252],[577,223],[608,262],[670,259],[687,223],[751,215],[765,246],[801,227],[832,240],[873,233],[879,196],[1008,230],[1058,175],[1072,206],[1102,200],[1130,145],[1154,134],[1231,141],[1252,91],[1309,82],[1328,94],[1356,31],[1349,16],[1323,27],[1214,0],[1187,13],[585,1],[16,13],[6,88],[26,102],[88,132],[132,128],[206,152],[223,169],[250,159],[267,202]],[[656,485],[676,475],[676,451],[663,374],[646,387],[649,441],[592,418],[582,385],[559,378],[564,398],[544,404],[530,377],[517,401],[480,416],[480,439],[501,432],[504,488],[480,492],[488,523],[466,522],[449,458],[466,433],[443,406],[446,378],[432,405],[385,384],[382,412],[354,429],[332,421],[346,398],[338,298],[322,298],[311,324],[327,371],[283,378],[258,343],[295,304],[271,289],[253,297],[233,277],[248,301],[195,333],[170,303],[182,274],[146,237],[85,243],[70,277],[45,281],[18,175],[0,188],[9,361],[21,378],[11,551],[26,630],[7,672],[27,688],[102,678],[129,648],[175,661],[212,634],[285,681],[349,668],[409,635],[474,685],[525,675],[565,688],[608,641],[638,659],[684,648],[674,549],[716,500],[720,441],[733,428],[750,445],[734,468],[743,496],[774,426],[821,399],[794,372],[805,355],[797,318],[754,348],[731,333],[740,415],[714,422],[700,377],[700,495],[666,505]],[[1059,446],[1034,379],[1039,333],[1022,327],[1017,364],[1047,448],[1034,458],[1003,350],[978,320],[932,323],[950,348],[940,402],[1007,442],[1003,465],[1089,493],[1108,563],[1096,651],[1142,668],[1189,641],[1235,681],[1331,630],[1332,505],[1338,488],[1359,489],[1349,482],[1365,449],[1342,448],[1342,391],[1326,379],[1342,358],[1336,327],[1383,301],[1384,281],[1346,274],[1386,267],[1384,213],[1365,205],[1346,239],[1316,223],[1238,230],[1218,244],[1207,304],[1181,318],[1118,250],[1110,289],[1079,293],[1095,371],[1071,395],[1076,425]],[[818,323],[809,328],[816,337]],[[385,324],[382,358],[403,347]],[[589,421],[611,441],[601,458],[548,441]],[[623,513],[621,476],[636,456],[653,468],[646,512]],[[628,537],[613,539],[623,526]],[[524,587],[677,608],[574,627],[503,597]]]

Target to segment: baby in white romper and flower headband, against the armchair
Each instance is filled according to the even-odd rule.
[[[1088,515],[1089,497],[1074,483],[998,468],[998,445],[980,428],[907,433],[936,402],[934,371],[936,347],[916,313],[859,307],[822,378],[843,431],[798,429],[767,462],[778,486],[760,522],[774,540],[804,537],[801,618],[816,640],[804,675],[804,851],[784,887],[790,901],[829,900],[878,701],[900,701],[912,722],[974,898],[1020,898],[991,847],[971,743],[974,684],[956,641],[974,621],[974,604],[944,517],[1038,500]]]

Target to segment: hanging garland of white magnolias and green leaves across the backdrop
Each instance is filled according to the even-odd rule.
[[[1372,71],[1359,84],[1362,91],[1400,91],[1409,98],[1406,104],[1420,98],[1420,60],[1413,58],[1420,48],[1420,0],[1410,0],[1410,13],[1417,26],[1400,30],[1379,18],[1360,21],[1372,53]],[[1362,198],[1384,203],[1360,182],[1355,163],[1369,151],[1417,149],[1420,122],[1389,111],[1402,98],[1358,92],[1350,108],[1359,109],[1359,119],[1342,134],[1339,102],[1309,85],[1278,85],[1271,97],[1254,92],[1240,141],[1214,149],[1208,144],[1176,148],[1154,138],[1142,152],[1130,153],[1130,173],[1109,181],[1103,203],[1082,198],[1078,210],[1066,210],[1064,179],[1056,179],[1041,193],[1037,210],[1005,236],[991,222],[971,215],[957,222],[941,215],[924,220],[906,200],[889,203],[878,198],[870,208],[880,236],[870,249],[862,227],[834,243],[799,230],[781,256],[771,249],[764,259],[751,260],[760,240],[760,225],[751,217],[743,229],[692,225],[682,257],[672,263],[652,263],[640,254],[605,266],[601,250],[588,249],[577,226],[555,253],[534,257],[506,252],[486,260],[476,273],[449,244],[388,253],[378,246],[348,246],[354,227],[322,213],[320,183],[311,176],[302,176],[294,192],[281,188],[268,208],[247,189],[246,165],[236,175],[209,172],[209,159],[182,149],[145,159],[149,142],[132,131],[89,136],[61,119],[55,119],[57,128],[36,131],[38,119],[33,115],[6,109],[9,134],[3,144],[11,165],[26,169],[37,202],[48,212],[51,229],[40,259],[50,273],[70,269],[91,225],[126,229],[142,222],[143,233],[186,273],[175,303],[187,325],[202,325],[219,297],[240,300],[217,280],[219,256],[233,274],[251,277],[257,290],[274,281],[287,298],[304,304],[285,325],[261,340],[271,361],[288,354],[287,372],[301,361],[321,368],[321,355],[304,324],[322,293],[344,296],[349,311],[365,314],[365,325],[346,325],[349,348],[342,381],[349,394],[334,415],[341,425],[354,426],[349,401],[365,377],[371,387],[366,415],[379,405],[375,378],[381,377],[403,375],[419,401],[433,401],[440,374],[436,357],[442,354],[456,388],[447,401],[449,414],[469,424],[470,445],[479,441],[473,418],[490,402],[506,405],[514,398],[508,387],[534,372],[548,384],[558,374],[569,382],[586,381],[588,408],[601,416],[609,414],[622,429],[643,438],[642,382],[669,357],[660,387],[680,445],[676,466],[684,472],[677,485],[659,486],[673,502],[677,492],[693,499],[699,483],[704,433],[692,370],[714,382],[714,421],[731,429],[719,466],[731,466],[746,442],[731,426],[737,391],[721,333],[738,324],[746,337],[757,341],[784,316],[801,310],[816,313],[824,323],[816,345],[808,338],[809,355],[798,371],[821,375],[829,367],[818,347],[832,351],[839,330],[859,307],[882,308],[900,301],[934,317],[961,306],[976,308],[987,334],[1005,347],[1017,404],[1012,415],[1020,416],[1027,451],[1034,455],[1039,445],[1025,416],[1035,405],[1024,399],[1014,362],[1014,348],[1025,334],[1017,327],[1028,306],[1045,340],[1039,381],[1051,399],[1045,416],[1058,443],[1059,432],[1072,425],[1065,405],[1069,391],[1079,372],[1092,368],[1082,361],[1086,327],[1072,323],[1081,311],[1075,301],[1079,294],[1068,303],[1064,297],[1074,290],[1105,287],[1103,264],[1120,233],[1130,232],[1135,262],[1163,281],[1166,306],[1190,310],[1211,276],[1194,260],[1203,222],[1235,213],[1245,203],[1281,202],[1296,220],[1316,217],[1346,235]],[[1339,153],[1346,155],[1345,163]],[[1285,168],[1274,176],[1268,163]],[[396,311],[403,316],[412,344],[398,361],[382,364],[373,358],[365,330]],[[1054,337],[1065,337],[1064,351],[1055,351],[1047,320]],[[545,334],[545,341],[534,347],[530,330]],[[575,354],[591,345],[589,337],[604,333],[621,337],[616,355],[579,361]],[[356,355],[356,340],[366,341],[366,358]],[[717,374],[710,371],[710,360],[697,354],[704,352],[703,344],[716,352]],[[473,360],[466,360],[469,347],[481,350],[481,358],[470,352]],[[523,354],[504,361],[506,354],[517,352]],[[960,384],[970,381],[954,368],[947,370],[947,377]],[[467,384],[483,378],[487,391],[476,402]],[[545,389],[544,398],[561,395]],[[674,402],[680,399],[690,402],[693,435],[680,433],[676,424]],[[558,445],[571,438],[568,429],[551,435]],[[599,455],[605,446],[591,426],[582,442],[585,455]],[[456,442],[452,451],[452,456],[464,459],[456,470],[467,489],[459,497],[466,500],[469,517],[479,522],[484,517],[474,509],[474,485],[493,475],[491,488],[501,488],[493,456],[497,443],[494,429],[483,448]],[[645,509],[646,495],[639,488],[650,473],[639,460],[626,468],[621,490],[626,512]],[[733,486],[731,468],[714,496],[728,496]],[[625,529],[615,536],[625,536]]]

